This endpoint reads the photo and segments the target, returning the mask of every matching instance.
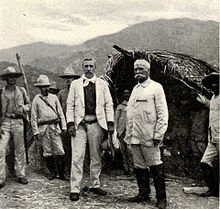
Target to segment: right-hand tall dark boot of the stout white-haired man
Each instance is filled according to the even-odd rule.
[[[164,177],[164,165],[151,166],[150,170],[154,179],[154,187],[156,190],[157,207],[159,209],[166,209],[166,185]]]

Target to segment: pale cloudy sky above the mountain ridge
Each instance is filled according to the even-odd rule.
[[[80,44],[159,18],[219,21],[219,0],[0,0],[0,49]]]

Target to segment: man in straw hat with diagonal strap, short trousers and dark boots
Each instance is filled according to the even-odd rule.
[[[31,125],[36,140],[41,140],[43,156],[50,175],[49,180],[57,176],[65,180],[64,175],[64,149],[61,140],[61,129],[66,131],[66,120],[56,95],[49,93],[49,78],[40,75],[34,86],[40,89],[33,100],[31,108]],[[61,124],[61,127],[60,127]],[[55,164],[57,158],[57,170]]]

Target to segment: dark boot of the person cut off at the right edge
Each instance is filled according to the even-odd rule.
[[[200,164],[206,185],[209,188],[209,190],[205,193],[202,193],[201,197],[209,197],[209,196],[215,196],[217,197],[219,195],[218,193],[218,184],[216,185],[216,174],[214,172],[214,169],[209,166],[207,163],[201,163]]]

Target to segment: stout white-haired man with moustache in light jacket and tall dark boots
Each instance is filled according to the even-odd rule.
[[[134,158],[139,194],[131,202],[149,200],[149,171],[156,189],[157,207],[166,208],[164,166],[160,144],[168,126],[168,109],[163,87],[150,79],[150,63],[138,59],[134,63],[138,84],[134,87],[127,107],[127,136]]]

